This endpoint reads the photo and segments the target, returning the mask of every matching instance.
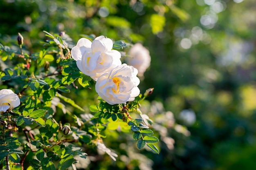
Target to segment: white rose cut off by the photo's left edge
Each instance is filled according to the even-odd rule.
[[[12,110],[20,105],[20,98],[10,89],[0,90],[0,113]]]

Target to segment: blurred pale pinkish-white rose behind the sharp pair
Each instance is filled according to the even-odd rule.
[[[138,76],[143,76],[151,61],[148,49],[137,43],[130,48],[128,54],[130,57],[127,57],[127,64],[137,68]]]

